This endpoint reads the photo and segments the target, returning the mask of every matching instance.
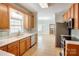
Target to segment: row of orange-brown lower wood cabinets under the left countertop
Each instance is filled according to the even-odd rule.
[[[36,38],[37,40],[37,35]],[[31,47],[31,36],[23,38],[21,40],[12,42],[5,46],[0,47],[0,50],[7,51],[16,56],[22,56]]]

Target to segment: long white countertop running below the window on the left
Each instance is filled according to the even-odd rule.
[[[17,40],[21,40],[25,37],[28,37],[28,36],[31,36],[31,35],[34,35],[35,33],[37,32],[33,32],[33,33],[23,33],[22,35],[18,35],[18,36],[14,36],[14,37],[10,37],[10,38],[0,38],[0,47],[1,46],[4,46],[4,45],[7,45],[9,43],[12,43],[12,42],[15,42]]]

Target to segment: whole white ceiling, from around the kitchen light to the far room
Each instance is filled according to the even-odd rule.
[[[48,8],[41,8],[38,3],[19,3],[19,5],[30,10],[37,12],[40,17],[52,17],[53,14],[64,14],[66,10],[72,5],[71,3],[48,3]]]

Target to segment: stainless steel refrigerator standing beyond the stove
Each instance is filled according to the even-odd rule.
[[[56,23],[56,47],[61,47],[61,35],[69,35],[67,23]]]

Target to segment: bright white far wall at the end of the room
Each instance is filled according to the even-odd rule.
[[[42,27],[41,33],[49,33],[49,24],[55,24],[55,15],[50,16],[38,16],[38,29]]]

